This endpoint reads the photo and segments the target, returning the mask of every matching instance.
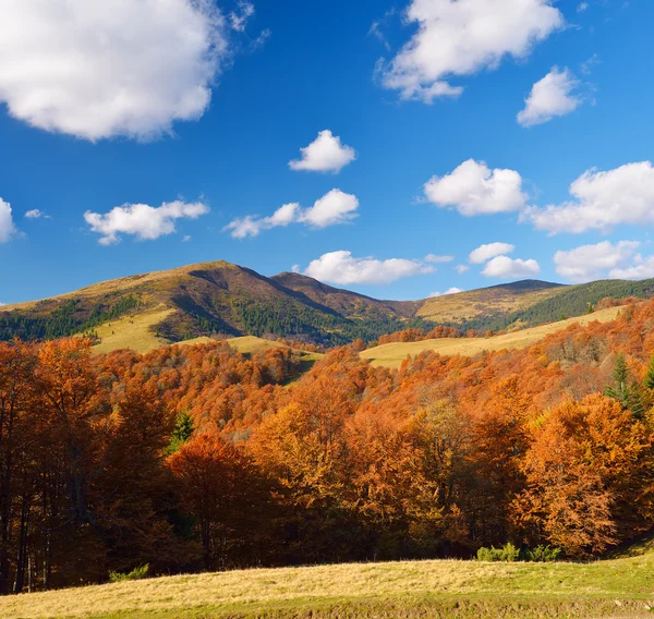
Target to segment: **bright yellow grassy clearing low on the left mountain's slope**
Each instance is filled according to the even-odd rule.
[[[156,337],[152,328],[173,312],[173,310],[159,310],[135,316],[123,316],[100,325],[95,330],[102,341],[93,347],[93,350],[98,354],[120,349],[144,353],[165,345],[169,343],[168,340]]]

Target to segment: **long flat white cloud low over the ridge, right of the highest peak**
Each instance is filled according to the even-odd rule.
[[[355,258],[351,252],[340,251],[323,254],[319,258],[312,260],[304,270],[304,275],[319,281],[348,286],[390,283],[404,277],[433,271],[434,267],[425,265],[421,260]]]

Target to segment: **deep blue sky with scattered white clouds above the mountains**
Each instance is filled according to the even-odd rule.
[[[0,302],[225,259],[654,277],[651,0],[0,0]]]

